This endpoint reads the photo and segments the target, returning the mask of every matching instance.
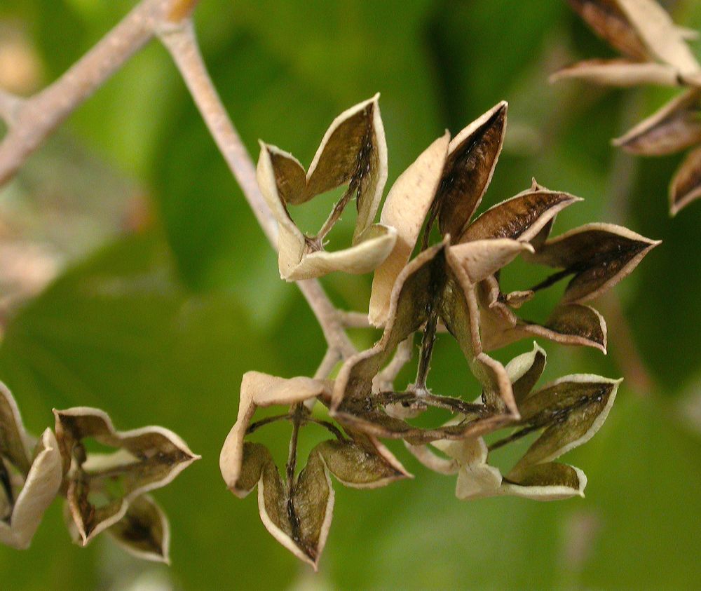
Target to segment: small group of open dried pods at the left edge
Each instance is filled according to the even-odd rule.
[[[43,512],[61,494],[76,543],[107,531],[133,555],[169,562],[168,518],[146,493],[199,456],[162,427],[116,431],[106,413],[88,407],[54,414],[55,434],[47,428],[32,446],[14,398],[0,383],[0,541],[28,548]],[[88,439],[116,451],[90,453]]]

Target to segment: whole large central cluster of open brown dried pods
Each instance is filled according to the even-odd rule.
[[[238,419],[222,449],[220,468],[229,489],[243,497],[258,487],[265,527],[314,567],[332,519],[331,475],[355,488],[410,477],[383,439],[401,439],[429,468],[456,473],[458,498],[583,495],[584,473],[555,460],[597,432],[619,381],[576,374],[536,386],[545,367],[538,345],[507,365],[488,352],[533,337],[605,352],[606,323],[586,302],[627,276],[657,243],[611,224],[587,224],[551,238],[557,213],[580,200],[535,181],[475,218],[501,151],[506,112],[502,102],[456,137],[446,133],[435,140],[390,189],[379,224],[374,217],[387,151],[377,97],[333,121],[307,171],[291,154],[261,143],[258,182],[280,227],[281,276],[374,271],[369,322],[383,327],[379,341],[343,362],[333,380],[245,374]],[[291,206],[343,186],[321,231],[302,233]],[[353,198],[358,217],[352,243],[327,252],[325,236]],[[555,271],[531,289],[505,293],[500,272],[516,257]],[[519,315],[522,304],[566,278],[564,295],[546,322]],[[468,400],[428,386],[433,345],[443,334],[458,341],[481,383]],[[411,356],[414,337],[420,341],[416,380],[397,391],[395,377]],[[253,420],[259,407],[275,405],[287,408]],[[411,422],[431,407],[452,418],[434,428]],[[247,440],[275,421],[291,423],[282,475],[264,444]],[[329,438],[298,470],[297,441],[306,426],[326,429]],[[508,432],[488,446],[483,436],[501,429]],[[537,437],[508,473],[490,465],[492,449],[525,435]]]

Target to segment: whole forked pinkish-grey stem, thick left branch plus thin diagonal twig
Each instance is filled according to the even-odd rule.
[[[27,99],[0,90],[0,118],[8,132],[0,144],[0,186],[97,88],[154,36],[170,51],[227,165],[273,247],[277,224],[258,189],[250,156],[233,127],[200,55],[190,15],[198,0],[143,0],[86,55],[50,86]],[[315,280],[297,283],[329,348],[355,353],[339,311]]]

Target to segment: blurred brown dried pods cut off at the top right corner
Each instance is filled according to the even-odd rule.
[[[687,41],[699,34],[678,27],[655,0],[568,0],[587,24],[624,57],[586,60],[551,81],[583,79],[607,86],[653,84],[685,92],[641,121],[613,144],[639,156],[694,148],[669,184],[672,215],[701,197],[701,65]]]

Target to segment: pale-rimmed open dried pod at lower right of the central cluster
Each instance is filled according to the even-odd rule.
[[[515,495],[552,501],[584,496],[587,477],[582,470],[554,460],[597,433],[613,406],[620,380],[576,374],[532,392],[544,367],[545,351],[537,345],[506,366],[521,412],[519,428],[508,437],[489,447],[482,437],[433,442],[447,458],[432,454],[428,447],[409,447],[410,451],[437,472],[457,472],[458,498]],[[489,465],[490,451],[534,432],[540,436],[506,476]]]

